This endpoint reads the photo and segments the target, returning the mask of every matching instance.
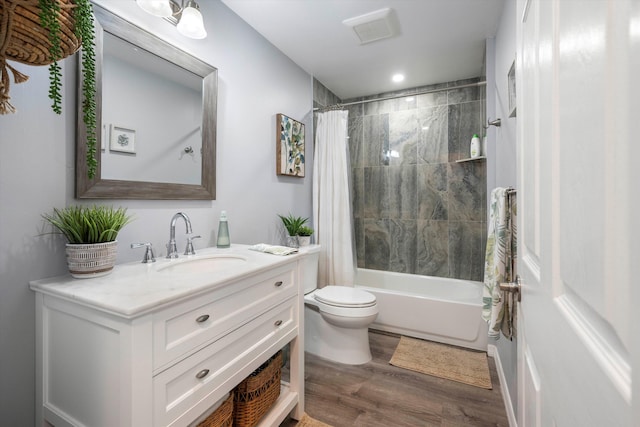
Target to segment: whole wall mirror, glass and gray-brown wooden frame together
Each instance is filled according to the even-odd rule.
[[[89,180],[78,120],[77,197],[215,199],[216,68],[99,6],[94,14],[98,170]]]

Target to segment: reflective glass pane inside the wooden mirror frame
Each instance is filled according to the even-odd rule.
[[[102,178],[200,184],[202,78],[111,33],[102,42]]]

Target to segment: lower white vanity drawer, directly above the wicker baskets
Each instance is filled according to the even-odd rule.
[[[298,299],[292,297],[156,375],[153,425],[183,426],[196,419],[264,362],[256,357],[296,330],[297,310]]]

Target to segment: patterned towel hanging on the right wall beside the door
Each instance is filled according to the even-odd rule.
[[[500,332],[508,339],[516,336],[514,294],[500,290],[500,283],[512,282],[516,276],[516,213],[515,192],[495,188],[491,192],[482,293],[482,318],[489,324],[489,337],[495,339],[500,338]]]

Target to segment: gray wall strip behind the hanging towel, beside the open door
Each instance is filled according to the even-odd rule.
[[[506,1],[495,39],[487,41],[487,80],[492,80],[493,90],[487,85],[487,115],[501,118],[499,128],[489,129],[487,158],[487,191],[495,187],[517,189],[516,118],[509,118],[509,92],[507,73],[516,55],[516,2]],[[493,76],[493,79],[490,77]],[[515,341],[501,337],[494,344],[500,355],[505,374],[506,389],[511,405],[517,410],[517,346]]]

